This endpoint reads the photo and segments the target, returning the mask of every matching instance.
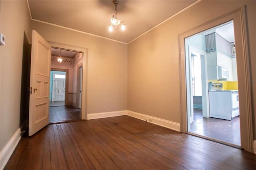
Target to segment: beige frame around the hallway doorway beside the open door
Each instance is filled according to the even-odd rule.
[[[62,43],[56,42],[48,42],[52,47],[69,49],[71,51],[76,51],[83,54],[82,59],[82,106],[81,106],[81,119],[87,120],[87,107],[86,107],[86,99],[87,99],[87,58],[88,58],[88,49],[84,47],[76,47],[72,45],[66,45]],[[66,94],[65,94],[66,95]],[[66,105],[66,99],[65,99]]]

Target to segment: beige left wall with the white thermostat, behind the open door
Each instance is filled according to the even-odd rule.
[[[24,32],[31,43],[30,15],[26,1],[1,1],[0,150],[20,127],[21,70]]]

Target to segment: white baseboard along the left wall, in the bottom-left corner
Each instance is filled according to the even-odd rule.
[[[12,152],[16,148],[18,142],[20,141],[20,128],[14,133],[9,142],[4,146],[4,148],[0,152],[0,170],[4,169],[4,166],[7,164],[9,158],[12,155]]]

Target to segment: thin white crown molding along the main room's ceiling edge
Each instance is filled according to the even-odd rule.
[[[133,40],[131,40],[130,42],[126,43],[126,42],[121,42],[121,41],[118,41],[118,40],[114,40],[114,39],[111,39],[111,38],[106,38],[106,37],[103,37],[103,36],[98,36],[98,35],[95,35],[95,34],[91,34],[91,33],[88,33],[88,32],[83,32],[83,31],[80,31],[80,30],[76,30],[76,29],[73,29],[73,28],[68,28],[68,27],[64,27],[64,26],[60,26],[60,25],[57,25],[57,24],[52,24],[50,22],[45,22],[45,21],[41,21],[41,20],[36,20],[34,18],[32,18],[32,14],[31,14],[31,11],[30,11],[30,6],[29,6],[29,3],[28,3],[28,0],[27,1],[27,4],[28,4],[28,11],[29,11],[29,14],[30,14],[30,19],[32,21],[36,21],[36,22],[41,22],[41,23],[44,23],[44,24],[48,24],[48,25],[52,25],[52,26],[56,26],[56,27],[60,27],[60,28],[64,28],[64,29],[67,29],[67,30],[71,30],[71,31],[74,31],[74,32],[79,32],[79,33],[82,33],[82,34],[87,34],[87,35],[90,35],[90,36],[95,36],[95,37],[99,37],[99,38],[104,38],[106,40],[110,40],[110,41],[114,41],[114,42],[119,42],[119,43],[124,43],[124,44],[129,44],[131,42],[133,42],[134,40],[136,40],[137,38],[140,38],[141,36],[143,36],[144,34],[150,32],[151,30],[153,30],[154,28],[162,25],[163,23],[165,23],[166,21],[170,20],[171,18],[173,18],[174,16],[180,14],[181,12],[183,12],[184,10],[190,8],[191,6],[194,6],[195,4],[197,4],[198,2],[200,2],[201,0],[196,0],[196,2],[190,4],[189,6],[187,6],[186,8],[183,8],[182,10],[180,10],[179,12],[175,13],[174,15],[170,16],[169,18],[167,18],[166,20],[160,22],[159,24],[157,24],[156,26],[154,26],[153,28],[149,29],[148,31],[140,34],[140,36],[134,38]]]

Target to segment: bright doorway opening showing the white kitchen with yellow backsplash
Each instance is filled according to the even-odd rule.
[[[185,38],[188,133],[241,146],[233,21]]]

